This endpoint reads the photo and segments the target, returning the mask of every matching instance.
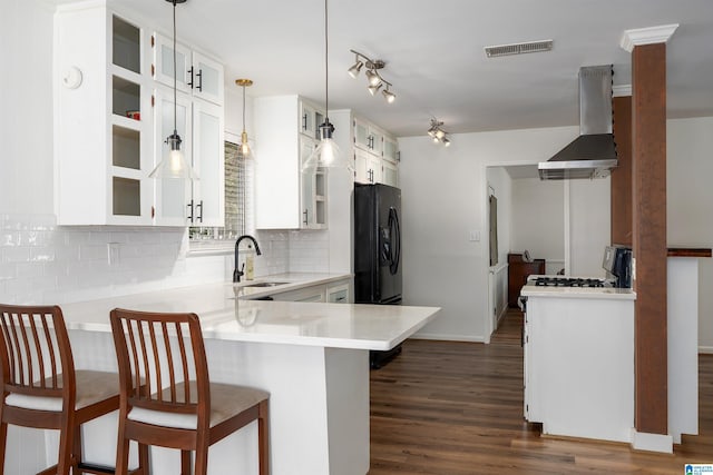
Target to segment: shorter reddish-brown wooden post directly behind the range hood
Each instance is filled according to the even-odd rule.
[[[612,244],[632,246],[632,97],[615,97],[614,141],[618,167],[612,170]]]

